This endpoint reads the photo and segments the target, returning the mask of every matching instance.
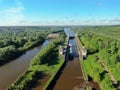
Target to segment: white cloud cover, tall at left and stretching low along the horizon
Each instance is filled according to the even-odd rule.
[[[0,0],[0,2],[4,0]],[[98,3],[102,5],[102,3]],[[90,19],[81,18],[79,16],[64,16],[54,19],[40,18],[40,17],[27,17],[23,14],[24,6],[17,0],[15,6],[7,7],[0,11],[0,26],[14,26],[14,25],[114,25],[120,24],[120,18],[115,19]]]

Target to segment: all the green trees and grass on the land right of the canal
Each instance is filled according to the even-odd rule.
[[[116,90],[120,84],[119,29],[120,26],[78,27],[74,29],[79,40],[88,50],[88,57],[81,61],[85,75],[98,82],[101,90]],[[101,61],[108,70],[101,65]],[[117,83],[114,84],[114,81]]]

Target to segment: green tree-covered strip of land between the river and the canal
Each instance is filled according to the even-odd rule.
[[[57,39],[51,41],[30,62],[30,68],[14,83],[8,90],[30,90],[45,75],[51,77],[63,64],[58,55],[58,45],[63,44],[65,36],[61,34]]]

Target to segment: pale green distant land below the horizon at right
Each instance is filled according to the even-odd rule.
[[[80,31],[93,32],[105,37],[114,38],[120,40],[120,25],[116,26],[80,26],[74,27],[73,30],[80,33]]]

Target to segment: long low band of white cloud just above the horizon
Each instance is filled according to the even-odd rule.
[[[19,22],[20,25],[26,26],[26,25],[33,25],[33,26],[39,26],[39,25],[118,25],[120,24],[120,19],[56,19],[56,20],[22,20]]]

